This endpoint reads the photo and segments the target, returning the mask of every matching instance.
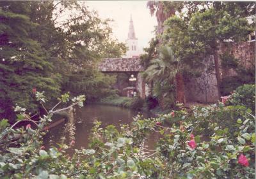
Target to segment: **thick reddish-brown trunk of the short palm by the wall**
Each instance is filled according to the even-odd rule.
[[[185,98],[185,84],[181,73],[177,73],[176,78],[176,101],[179,103],[186,103]]]

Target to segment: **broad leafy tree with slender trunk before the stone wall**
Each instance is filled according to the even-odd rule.
[[[189,5],[186,13],[168,18],[164,23],[163,44],[170,45],[183,62],[186,73],[195,76],[205,68],[205,60],[214,57],[218,96],[220,97],[220,64],[218,47],[227,40],[244,41],[253,31],[246,16],[252,15],[254,3],[203,3]],[[184,7],[188,7],[185,3]],[[177,11],[180,11],[177,9]]]

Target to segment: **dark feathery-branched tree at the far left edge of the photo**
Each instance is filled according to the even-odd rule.
[[[36,110],[32,89],[44,90],[51,99],[60,93],[60,75],[54,73],[49,53],[33,37],[38,24],[29,18],[30,2],[0,3],[0,104],[3,117],[12,106]]]

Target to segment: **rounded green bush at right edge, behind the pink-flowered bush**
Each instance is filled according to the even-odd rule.
[[[233,105],[246,106],[255,113],[255,85],[243,85],[232,94],[230,102]]]

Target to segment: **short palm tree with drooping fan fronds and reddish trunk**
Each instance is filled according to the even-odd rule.
[[[145,70],[145,76],[148,82],[168,80],[173,83],[175,81],[176,101],[186,103],[182,63],[175,58],[171,47],[159,48],[159,57],[151,60],[150,65]]]

